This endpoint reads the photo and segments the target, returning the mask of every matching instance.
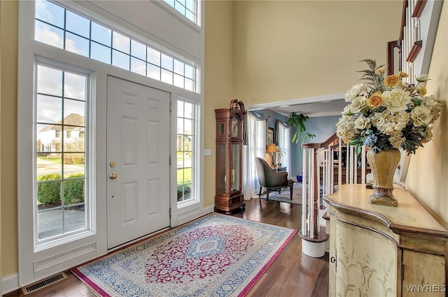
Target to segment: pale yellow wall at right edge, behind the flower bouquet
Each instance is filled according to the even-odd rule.
[[[448,99],[448,3],[440,15],[429,68],[428,94]],[[411,156],[406,187],[435,212],[448,228],[448,106],[433,128],[433,141]]]

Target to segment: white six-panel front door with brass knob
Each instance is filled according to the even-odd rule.
[[[168,92],[107,81],[108,249],[169,227]]]

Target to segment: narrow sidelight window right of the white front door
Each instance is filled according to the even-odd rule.
[[[190,200],[193,191],[193,121],[195,104],[177,102],[177,201]]]

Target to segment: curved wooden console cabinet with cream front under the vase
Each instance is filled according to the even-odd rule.
[[[447,230],[404,188],[398,207],[345,184],[328,195],[329,296],[445,296]]]

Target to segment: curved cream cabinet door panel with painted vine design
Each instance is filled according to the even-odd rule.
[[[336,221],[336,296],[397,296],[397,247],[372,230]]]

